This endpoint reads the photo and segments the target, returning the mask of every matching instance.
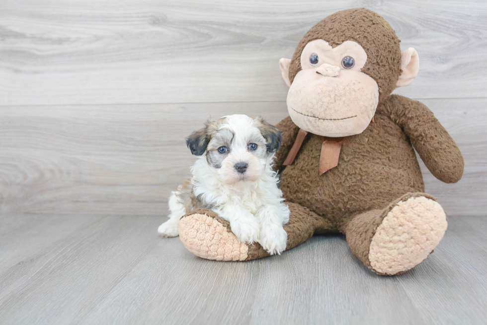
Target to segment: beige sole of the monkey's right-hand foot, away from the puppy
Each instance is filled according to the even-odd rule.
[[[407,271],[428,257],[446,228],[446,215],[438,202],[424,196],[399,202],[372,238],[370,265],[382,274]]]

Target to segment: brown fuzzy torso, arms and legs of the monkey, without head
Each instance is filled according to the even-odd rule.
[[[277,127],[283,131],[279,169],[299,128],[289,117]],[[463,174],[463,157],[455,141],[425,105],[403,96],[389,96],[377,108],[374,123],[360,134],[344,137],[338,166],[320,176],[322,143],[322,136],[308,134],[294,163],[282,173],[281,190],[291,210],[284,225],[286,249],[314,234],[339,231],[369,268],[369,246],[387,213],[410,197],[435,199],[422,193],[423,179],[411,143],[440,180],[456,182]],[[230,223],[215,212],[198,208],[187,215],[194,213],[215,218],[231,232]],[[259,244],[249,245],[246,260],[268,255]]]

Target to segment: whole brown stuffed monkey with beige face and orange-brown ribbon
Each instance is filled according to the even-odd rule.
[[[286,249],[314,234],[340,232],[376,273],[399,274],[422,262],[447,220],[424,193],[413,147],[446,183],[460,180],[464,161],[425,105],[391,95],[416,76],[416,51],[401,53],[395,31],[377,13],[348,9],[314,25],[280,68],[290,87],[275,166],[291,211]],[[204,259],[268,256],[259,244],[240,242],[208,209],[182,217],[179,236]]]

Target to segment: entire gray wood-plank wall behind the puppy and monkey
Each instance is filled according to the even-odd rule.
[[[487,208],[487,2],[0,1],[0,213],[166,214],[210,115],[286,116],[277,61],[327,14],[365,6],[420,56],[397,93],[458,142],[464,178],[422,165],[449,215]]]

